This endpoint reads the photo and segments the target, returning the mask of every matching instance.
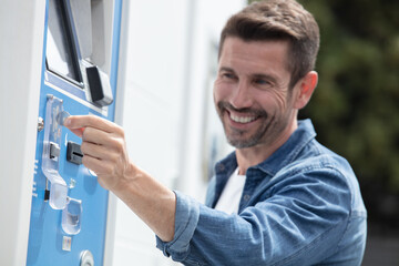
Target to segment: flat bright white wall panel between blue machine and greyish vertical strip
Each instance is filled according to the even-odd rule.
[[[137,165],[172,186],[177,176],[187,1],[131,1],[123,126]],[[117,203],[113,265],[162,265],[154,234]],[[166,260],[167,262],[167,260]]]

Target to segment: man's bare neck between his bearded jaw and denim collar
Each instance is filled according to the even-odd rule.
[[[298,127],[298,122],[295,119],[290,125],[280,134],[280,136],[272,143],[263,143],[252,147],[237,149],[236,157],[238,163],[238,174],[245,175],[246,171],[254,165],[257,165],[268,158],[274,152],[276,152],[294,131]]]

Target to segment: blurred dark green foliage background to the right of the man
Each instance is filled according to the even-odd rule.
[[[364,265],[399,265],[399,1],[300,3],[321,34],[318,89],[300,116],[357,174],[368,209]]]

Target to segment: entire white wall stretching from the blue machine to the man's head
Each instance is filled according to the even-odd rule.
[[[209,76],[226,19],[243,0],[131,0],[122,124],[133,161],[171,188],[204,197]],[[213,125],[212,125],[213,126]],[[212,127],[211,126],[211,127]],[[171,265],[120,201],[113,265]]]

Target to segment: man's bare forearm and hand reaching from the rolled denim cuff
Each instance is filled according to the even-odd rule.
[[[64,125],[82,137],[83,164],[102,187],[121,198],[164,242],[174,237],[175,194],[129,160],[124,131],[94,115],[76,115]]]

